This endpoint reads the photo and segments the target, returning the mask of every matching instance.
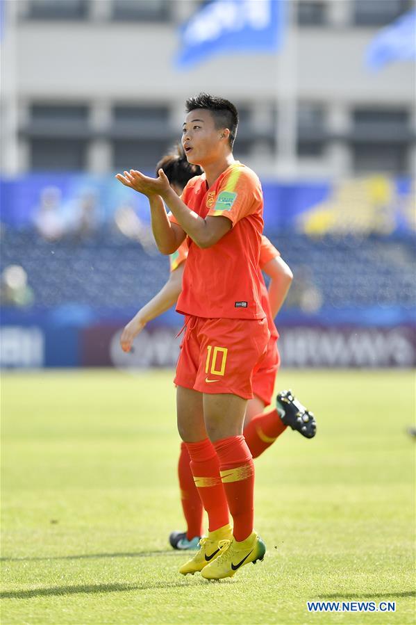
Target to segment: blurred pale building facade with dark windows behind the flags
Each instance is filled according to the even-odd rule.
[[[153,168],[184,102],[235,102],[235,155],[263,177],[343,179],[415,170],[415,63],[378,72],[365,52],[413,0],[290,0],[278,55],[178,70],[178,26],[199,0],[6,0],[1,173]]]

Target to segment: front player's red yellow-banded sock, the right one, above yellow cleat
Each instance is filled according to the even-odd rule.
[[[244,436],[231,436],[213,443],[219,458],[222,483],[233,517],[233,535],[241,542],[253,531],[253,458]]]

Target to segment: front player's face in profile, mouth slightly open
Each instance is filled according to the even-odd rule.
[[[221,131],[215,128],[210,111],[197,108],[190,111],[183,122],[182,145],[188,163],[209,165],[217,161],[222,153],[224,140]]]

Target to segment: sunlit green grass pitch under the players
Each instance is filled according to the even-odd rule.
[[[232,580],[183,578],[172,372],[5,373],[6,624],[406,624],[413,594],[409,371],[282,371],[317,416],[256,460],[267,554]],[[306,601],[395,601],[310,613]]]

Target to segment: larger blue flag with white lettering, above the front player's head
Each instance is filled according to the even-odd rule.
[[[276,51],[283,40],[285,0],[213,0],[181,27],[178,67],[234,51]]]

